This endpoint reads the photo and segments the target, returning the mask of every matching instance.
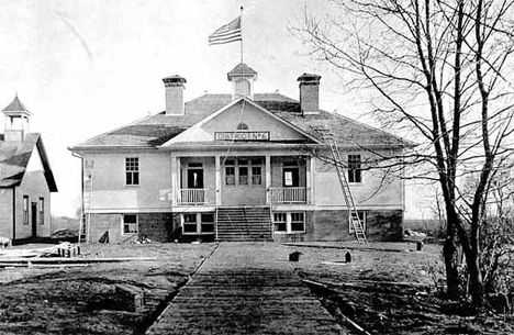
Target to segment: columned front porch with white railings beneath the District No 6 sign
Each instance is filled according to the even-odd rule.
[[[308,156],[179,156],[171,158],[174,205],[312,204]]]

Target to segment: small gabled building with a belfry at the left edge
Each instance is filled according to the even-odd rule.
[[[27,241],[51,235],[51,193],[57,192],[41,134],[29,132],[32,113],[18,94],[2,110],[0,236]]]

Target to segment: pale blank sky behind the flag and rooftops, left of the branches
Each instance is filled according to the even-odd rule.
[[[74,215],[80,160],[67,149],[165,109],[161,78],[188,81],[186,100],[228,93],[226,72],[239,63],[239,43],[208,45],[208,35],[243,12],[244,62],[258,72],[256,92],[298,99],[297,78],[323,76],[321,107],[366,121],[338,77],[308,56],[290,31],[305,5],[275,0],[0,0],[0,108],[18,91],[43,135],[59,192],[54,215]],[[3,130],[3,118],[1,129]]]

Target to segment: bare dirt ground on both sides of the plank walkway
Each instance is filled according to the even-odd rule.
[[[34,246],[21,246],[30,248]],[[41,269],[0,268],[1,334],[143,334],[187,282],[215,244],[82,246],[86,257],[156,257],[152,261]],[[16,247],[18,248],[18,247]],[[299,276],[346,328],[346,317],[369,334],[514,334],[512,315],[469,316],[439,300],[442,279],[434,264],[440,248],[414,243],[306,244]],[[351,263],[346,263],[346,253]],[[321,283],[321,286],[320,286]],[[144,305],[130,311],[116,286],[141,293]],[[362,334],[355,332],[355,334]]]

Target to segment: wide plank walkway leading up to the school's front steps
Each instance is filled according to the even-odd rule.
[[[147,334],[345,334],[294,273],[290,252],[220,244]]]

